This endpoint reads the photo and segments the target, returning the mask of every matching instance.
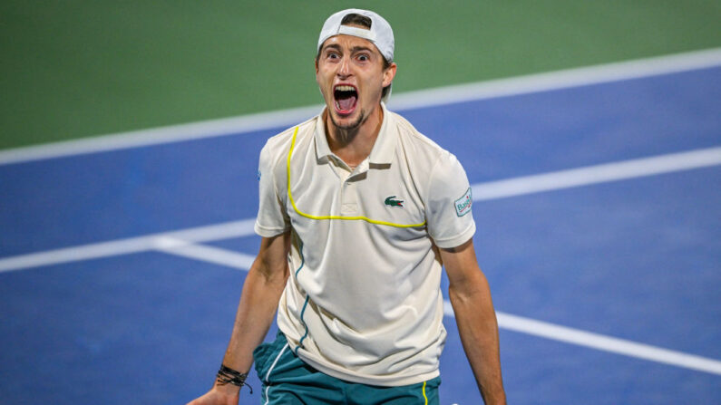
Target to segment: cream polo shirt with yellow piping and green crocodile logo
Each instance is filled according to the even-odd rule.
[[[398,386],[439,374],[434,246],[462,245],[475,224],[455,156],[382,106],[373,150],[353,170],[328,147],[323,114],[270,138],[255,230],[292,232],[278,327],[298,357],[342,380]]]

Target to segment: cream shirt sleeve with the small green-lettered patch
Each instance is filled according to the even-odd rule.
[[[426,220],[428,234],[438,247],[463,245],[473,237],[473,196],[463,166],[453,154],[444,152],[429,180]]]

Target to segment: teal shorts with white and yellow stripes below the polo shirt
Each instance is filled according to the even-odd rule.
[[[308,366],[290,350],[286,336],[263,343],[253,352],[263,382],[261,404],[396,404],[438,405],[441,378],[401,387],[381,387],[336,379]]]

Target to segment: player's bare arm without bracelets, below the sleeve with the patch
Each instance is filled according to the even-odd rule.
[[[481,272],[473,239],[461,246],[439,249],[450,287],[448,295],[461,334],[463,350],[486,404],[505,404],[498,347],[498,322],[491,290]]]

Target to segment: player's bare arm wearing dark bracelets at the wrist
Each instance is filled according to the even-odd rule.
[[[286,285],[288,268],[287,252],[290,233],[263,237],[258,256],[250,266],[243,292],[240,296],[233,333],[223,364],[239,372],[248,372],[253,364],[253,350],[263,342],[273,316],[278,310],[278,301]],[[219,385],[189,405],[237,404],[239,387],[232,384]]]

